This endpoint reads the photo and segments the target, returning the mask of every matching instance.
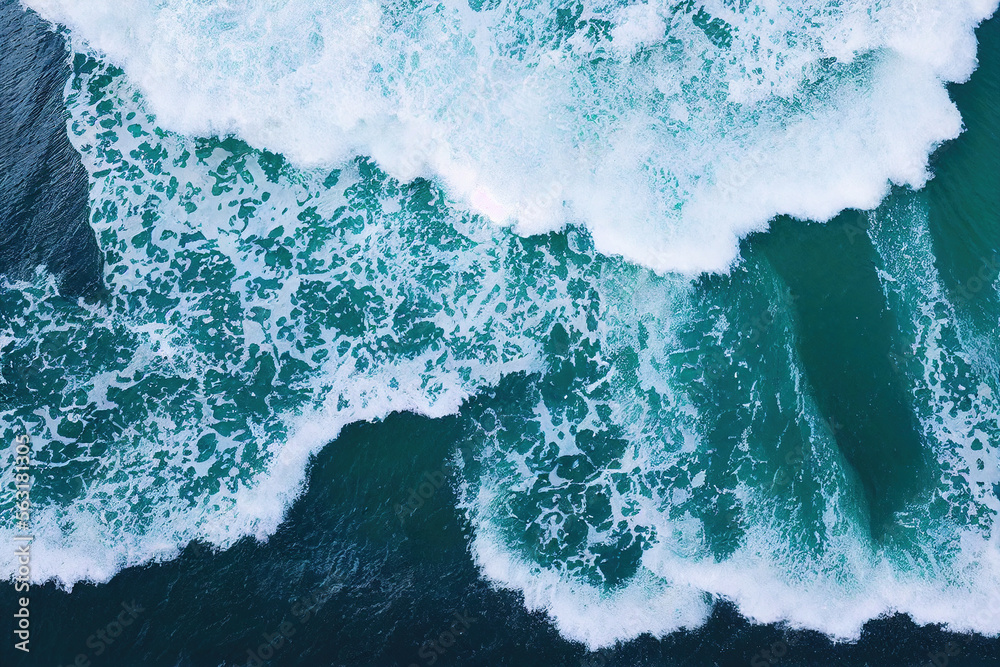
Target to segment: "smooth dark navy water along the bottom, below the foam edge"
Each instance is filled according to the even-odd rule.
[[[402,525],[384,523],[380,506],[405,501],[414,480],[446,467],[458,429],[457,419],[406,414],[349,427],[318,457],[308,492],[266,544],[246,540],[224,553],[192,545],[177,560],[126,570],[108,584],[71,594],[33,589],[32,653],[18,655],[5,642],[3,664],[69,665],[80,654],[109,667],[253,664],[248,651],[280,634],[282,623],[294,633],[274,649],[275,666],[917,667],[931,656],[941,663],[942,654],[958,667],[1000,664],[995,639],[921,628],[903,616],[872,621],[859,642],[835,645],[815,632],[753,625],[727,604],[697,631],[587,653],[527,613],[518,595],[482,580],[447,485]],[[376,482],[386,479],[386,460],[397,462],[394,489]],[[12,587],[0,592],[9,618]],[[133,601],[143,607],[136,621],[113,643],[92,640],[105,647],[101,655],[88,648],[88,637]],[[428,642],[450,631],[456,613],[472,622],[436,650]]]

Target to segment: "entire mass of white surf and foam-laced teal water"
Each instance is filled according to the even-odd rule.
[[[947,85],[994,0],[25,4],[71,45],[111,292],[0,292],[36,581],[267,539],[311,455],[409,410],[468,422],[483,575],[590,648],[720,598],[838,639],[893,611],[1000,634],[1000,387],[919,193],[883,204],[961,133]],[[794,295],[740,254],[776,216],[876,207],[933,453],[877,539]]]

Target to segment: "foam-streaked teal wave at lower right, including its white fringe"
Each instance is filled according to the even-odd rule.
[[[898,222],[878,238],[905,245],[896,253],[903,264],[891,268],[912,277],[912,291],[919,295],[931,284],[921,276],[933,272],[929,246],[915,241],[927,240],[921,227],[926,217],[913,211]],[[923,231],[911,235],[911,227]],[[940,343],[913,355],[914,409],[939,467],[931,473],[937,478],[930,480],[930,490],[898,511],[887,535],[874,539],[864,492],[834,439],[837,425],[821,418],[800,370],[790,314],[778,309],[764,320],[767,326],[739,331],[740,317],[761,322],[755,308],[771,312],[781,295],[780,284],[768,286],[761,266],[755,265],[752,275],[755,288],[768,299],[756,306],[740,303],[746,297],[732,293],[720,297],[718,306],[697,304],[690,295],[686,305],[683,295],[633,301],[627,289],[624,300],[602,298],[607,310],[600,319],[609,330],[598,357],[612,366],[602,372],[615,374],[620,348],[636,350],[642,370],[637,384],[612,383],[604,394],[594,390],[590,378],[579,379],[570,391],[587,410],[583,418],[575,413],[576,437],[546,402],[551,399],[544,398],[545,377],[533,420],[541,426],[540,437],[526,433],[521,442],[511,441],[508,432],[494,427],[494,419],[480,420],[485,424],[481,437],[496,445],[483,448],[461,491],[474,527],[472,554],[484,575],[521,592],[529,609],[544,611],[561,634],[591,650],[641,634],[697,627],[719,599],[731,601],[754,622],[816,630],[836,640],[857,640],[869,620],[894,613],[957,632],[1000,634],[1000,534],[993,486],[1000,466],[989,444],[996,435],[982,432],[983,422],[993,422],[996,411],[979,396],[975,381],[941,375],[945,368],[963,368],[956,363],[961,351],[951,349],[954,341],[941,335],[953,320],[943,312],[932,316],[933,307],[929,311],[923,302],[908,307],[891,301],[899,312],[913,314],[922,340]],[[638,289],[655,293],[650,287]],[[655,305],[662,311],[651,308]],[[682,315],[685,311],[689,314]],[[635,327],[611,325],[619,319],[642,322],[648,339],[630,340]],[[709,372],[717,363],[710,343],[685,349],[679,329],[692,326],[696,340],[711,336],[722,345],[728,361],[719,372]],[[685,359],[685,354],[691,356]],[[704,384],[690,376],[680,381],[688,364],[704,373]],[[578,360],[576,367],[585,365]],[[713,382],[720,383],[726,401],[714,410],[711,393],[708,405],[695,400],[710,392]],[[666,403],[663,412],[651,409],[646,391],[652,387]],[[979,396],[973,398],[977,402],[957,409],[967,395]],[[931,404],[921,406],[928,397]],[[601,413],[603,401],[621,409],[608,410],[595,424],[593,415]],[[721,438],[713,431],[718,420]],[[733,424],[741,427],[742,439],[727,451],[725,438],[733,437]],[[628,434],[620,452],[580,440],[585,429],[614,425]],[[977,449],[976,438],[985,447]],[[792,450],[794,456],[782,455],[783,447],[796,442],[800,448]],[[545,458],[552,445],[558,459]],[[782,474],[772,475],[769,456],[790,470],[779,468]],[[569,479],[571,461],[581,468],[592,463],[594,469]],[[719,494],[714,499],[713,492]],[[591,505],[601,496],[610,501],[607,512],[600,502]],[[736,499],[737,514],[727,514],[719,502],[726,496]],[[736,536],[731,549],[719,548],[718,540],[713,546],[709,535],[718,533],[718,526],[710,524],[719,515],[725,517],[724,530]],[[574,525],[580,516],[588,523],[585,537]],[[607,573],[614,573],[609,562],[621,565],[634,558],[629,537],[642,543],[638,567],[625,581],[609,581]]]

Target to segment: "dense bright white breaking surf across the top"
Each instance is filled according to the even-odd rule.
[[[28,0],[124,67],[166,127],[300,165],[361,153],[519,233],[589,228],[724,271],[777,214],[921,187],[995,0],[416,4]]]

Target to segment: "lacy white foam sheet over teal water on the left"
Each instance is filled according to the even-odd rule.
[[[111,296],[68,302],[44,272],[0,291],[0,341],[20,359],[0,434],[24,424],[34,449],[32,581],[107,581],[193,539],[266,539],[344,425],[450,414],[537,364],[552,311],[497,317],[516,305],[497,261],[515,237],[451,224],[357,165],[300,172],[165,133],[91,65],[67,89],[70,137]],[[566,307],[565,281],[544,275],[523,298],[552,290]],[[0,465],[11,489],[11,448]],[[0,568],[16,572],[12,551]]]

